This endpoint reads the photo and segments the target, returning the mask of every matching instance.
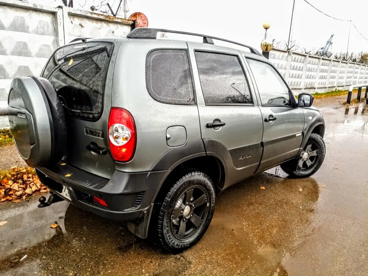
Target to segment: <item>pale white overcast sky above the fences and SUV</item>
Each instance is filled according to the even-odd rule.
[[[61,0],[29,0],[38,4],[59,6]],[[74,7],[87,1],[84,9],[98,5],[100,0],[74,0]],[[118,0],[103,0],[113,4],[116,10]],[[368,38],[367,0],[308,0],[326,14],[344,20],[353,20],[360,32]],[[262,1],[208,1],[208,0],[127,0],[128,16],[140,11],[148,17],[149,27],[176,29],[205,33],[236,40],[256,49],[260,48],[264,29],[262,23],[271,24],[269,38],[287,41],[289,36],[293,0]],[[120,14],[124,16],[121,9]],[[293,24],[293,40],[302,50],[311,50],[325,45],[334,35],[332,52],[346,52],[349,22],[338,21],[319,13],[304,0],[296,0]],[[368,52],[368,41],[351,25],[349,52]]]

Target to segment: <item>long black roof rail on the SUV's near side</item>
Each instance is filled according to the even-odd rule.
[[[182,31],[174,31],[174,30],[166,30],[166,29],[155,29],[155,28],[135,28],[130,33],[128,33],[127,38],[152,38],[152,39],[154,39],[154,38],[157,38],[157,33],[158,32],[180,33],[182,35],[202,36],[203,37],[203,42],[204,43],[209,43],[209,44],[215,44],[215,43],[213,43],[213,39],[221,40],[221,41],[225,41],[225,42],[229,42],[229,43],[232,43],[232,44],[236,44],[236,45],[246,47],[251,51],[251,53],[258,54],[259,56],[262,56],[261,53],[259,53],[256,49],[254,49],[251,46],[248,46],[248,45],[245,45],[245,44],[242,44],[242,43],[239,43],[239,42],[223,39],[223,38],[216,38],[215,36],[201,35],[199,33],[190,33],[190,32],[182,32]]]

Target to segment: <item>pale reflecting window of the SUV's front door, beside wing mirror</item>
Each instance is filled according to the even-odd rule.
[[[262,105],[291,105],[289,89],[276,70],[267,63],[248,59]]]

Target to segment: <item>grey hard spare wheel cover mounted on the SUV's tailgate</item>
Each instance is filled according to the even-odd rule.
[[[42,90],[42,89],[41,89]],[[32,77],[15,78],[8,96],[8,118],[15,145],[31,167],[51,159],[53,127],[44,91]]]

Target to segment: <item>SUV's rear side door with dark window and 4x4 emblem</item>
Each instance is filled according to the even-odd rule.
[[[227,166],[230,185],[250,176],[262,156],[262,116],[240,52],[188,43],[202,139]]]

